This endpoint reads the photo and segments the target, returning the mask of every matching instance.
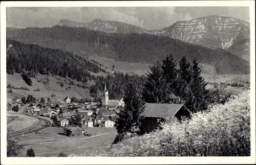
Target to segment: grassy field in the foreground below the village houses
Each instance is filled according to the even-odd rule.
[[[95,136],[69,137],[63,135],[63,128],[48,127],[39,134],[20,136],[19,144],[25,145],[23,150],[26,153],[28,148],[33,148],[36,156],[57,156],[60,152],[67,154],[80,154],[88,150],[108,149],[113,142],[115,128],[86,128],[85,132],[94,132]],[[98,136],[97,136],[98,135]]]

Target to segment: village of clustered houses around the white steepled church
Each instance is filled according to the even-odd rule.
[[[51,100],[50,102],[38,100],[36,103],[27,105],[21,99],[16,99],[13,103],[7,104],[8,110],[11,110],[13,106],[24,109],[23,112],[27,114],[51,120],[51,126],[63,127],[63,133],[67,136],[77,136],[86,134],[84,128],[114,127],[118,113],[124,107],[124,102],[122,98],[110,100],[105,84],[102,99],[99,102],[75,103],[71,102],[71,98],[68,96],[63,100]],[[52,120],[54,117],[56,121]],[[71,120],[76,118],[79,118],[78,124],[71,123]]]

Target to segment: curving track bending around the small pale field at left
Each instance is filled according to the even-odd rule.
[[[40,122],[36,122],[34,125],[32,125],[32,126],[30,126],[28,128],[25,128],[25,129],[22,129],[22,130],[19,130],[19,131],[14,131],[11,134],[11,137],[15,137],[15,136],[19,136],[19,135],[24,135],[24,134],[28,134],[28,133],[33,133],[33,132],[45,129],[48,126],[51,125],[51,121],[48,120],[48,119],[45,119],[44,117],[39,117],[39,116],[35,116],[35,115],[31,115],[31,114],[25,113],[24,112],[25,108],[27,108],[27,107],[25,106],[25,107],[20,108],[19,109],[19,113],[22,113],[22,114],[34,117],[34,118],[38,119]]]

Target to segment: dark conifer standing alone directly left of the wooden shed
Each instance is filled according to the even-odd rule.
[[[120,142],[127,133],[132,136],[140,133],[140,124],[143,119],[141,113],[145,105],[142,99],[141,89],[137,84],[130,82],[126,89],[123,101],[125,108],[120,111],[119,119],[117,120],[115,127],[117,129],[117,136],[113,144]]]

